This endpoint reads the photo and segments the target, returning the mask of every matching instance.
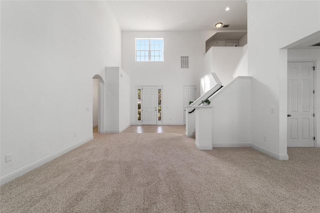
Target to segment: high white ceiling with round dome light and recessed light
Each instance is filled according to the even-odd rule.
[[[122,31],[246,30],[245,0],[108,0]],[[225,10],[226,7],[230,9]]]

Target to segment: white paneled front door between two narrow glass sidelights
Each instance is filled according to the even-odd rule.
[[[156,86],[142,86],[142,124],[156,124]]]

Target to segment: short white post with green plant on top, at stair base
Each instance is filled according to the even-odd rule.
[[[200,150],[212,149],[212,106],[195,106],[195,146]]]

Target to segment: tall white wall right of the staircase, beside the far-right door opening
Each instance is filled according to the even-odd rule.
[[[320,2],[249,0],[247,5],[251,142],[285,159],[287,52],[280,48],[319,30]],[[303,28],[297,30],[297,26]]]

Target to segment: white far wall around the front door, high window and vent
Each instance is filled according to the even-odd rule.
[[[162,85],[162,123],[183,124],[183,85],[199,86],[199,78],[207,74],[203,70],[205,40],[213,33],[213,31],[122,32],[122,69],[131,77],[130,122],[132,124],[136,119],[136,85]],[[143,37],[163,38],[163,62],[135,62],[134,38]],[[189,68],[180,68],[180,56],[189,56]]]

